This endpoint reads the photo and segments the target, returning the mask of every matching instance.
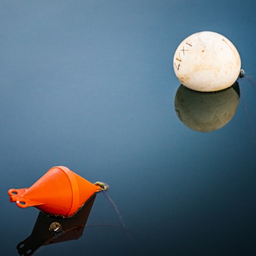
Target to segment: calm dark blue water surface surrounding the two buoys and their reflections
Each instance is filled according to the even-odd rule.
[[[107,182],[129,233],[100,193],[82,236],[37,255],[255,255],[255,84],[239,79],[231,120],[200,132],[176,113],[172,68],[178,44],[210,30],[235,44],[255,80],[255,8],[1,1],[1,255],[19,255],[40,214],[11,204],[7,190],[58,165]]]

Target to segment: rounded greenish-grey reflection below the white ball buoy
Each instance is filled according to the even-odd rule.
[[[197,92],[180,85],[175,110],[184,125],[194,131],[215,131],[227,125],[237,111],[239,83],[218,92]]]

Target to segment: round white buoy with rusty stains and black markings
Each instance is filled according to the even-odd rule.
[[[239,78],[241,58],[225,36],[202,31],[184,39],[174,54],[174,72],[180,82],[200,92],[232,86]]]

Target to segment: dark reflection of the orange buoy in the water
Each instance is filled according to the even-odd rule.
[[[39,247],[80,238],[95,197],[96,194],[71,218],[40,212],[31,235],[17,245],[19,255],[33,255]]]

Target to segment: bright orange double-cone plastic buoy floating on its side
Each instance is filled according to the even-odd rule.
[[[70,217],[95,193],[107,190],[103,182],[92,184],[65,166],[50,168],[30,188],[12,188],[10,202],[27,208],[34,206],[48,214]]]

